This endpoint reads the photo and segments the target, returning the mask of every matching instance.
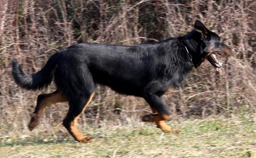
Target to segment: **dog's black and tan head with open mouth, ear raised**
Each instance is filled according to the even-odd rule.
[[[208,30],[203,23],[196,20],[194,28],[201,33],[201,40],[204,43],[204,55],[206,59],[216,68],[220,68],[222,63],[218,60],[218,55],[229,57],[233,54],[231,48],[225,45],[220,37]]]

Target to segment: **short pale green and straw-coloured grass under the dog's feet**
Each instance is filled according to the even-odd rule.
[[[181,134],[165,134],[153,123],[80,126],[94,137],[77,143],[62,126],[0,135],[1,158],[256,158],[256,120],[246,114],[224,118],[173,119]]]

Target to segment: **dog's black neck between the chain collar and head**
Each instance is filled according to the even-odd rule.
[[[201,40],[201,33],[193,30],[179,39],[182,41],[182,45],[186,47],[185,50],[187,49],[187,54],[191,54],[194,67],[198,68],[205,60],[205,45]],[[190,58],[188,57],[188,59]]]

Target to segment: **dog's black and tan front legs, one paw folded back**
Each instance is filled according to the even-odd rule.
[[[169,110],[165,106],[162,96],[148,94],[145,97],[145,100],[149,103],[151,107],[152,114],[147,114],[142,117],[143,122],[155,122],[158,128],[166,133],[179,133],[180,130],[170,128],[165,120],[170,118]]]

